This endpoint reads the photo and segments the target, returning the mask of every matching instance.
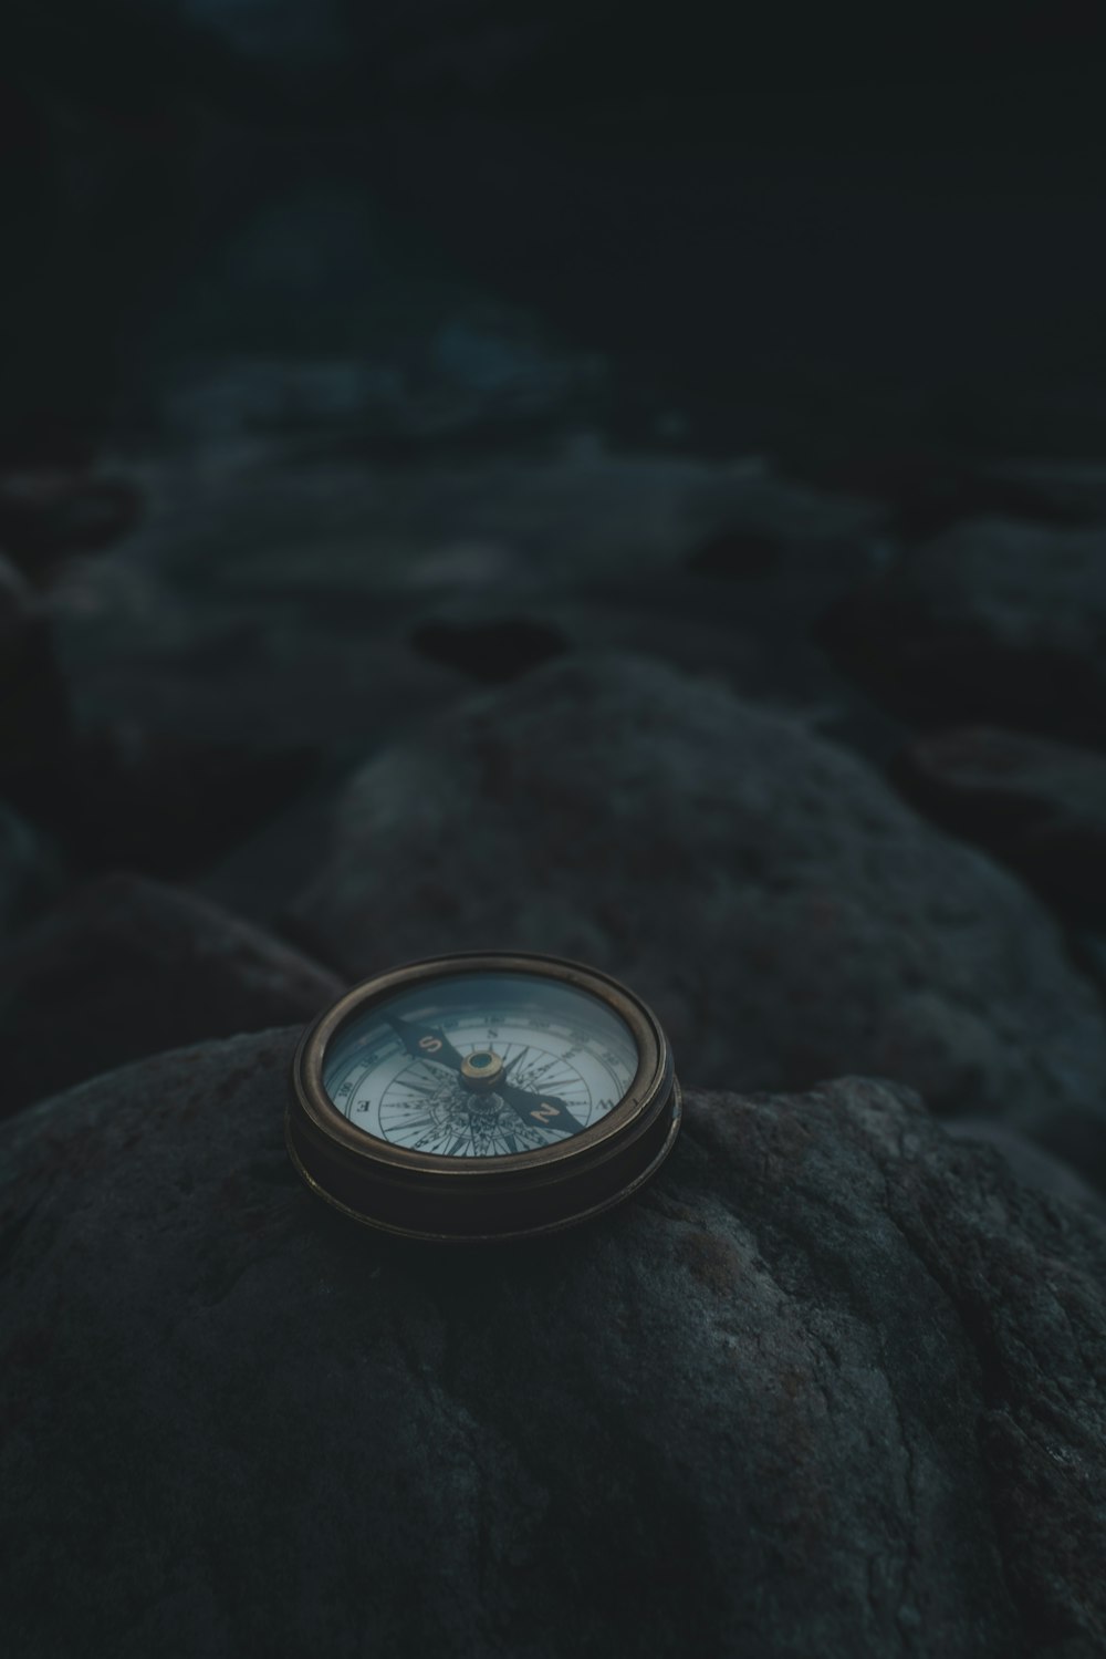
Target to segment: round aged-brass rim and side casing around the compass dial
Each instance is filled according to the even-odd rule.
[[[355,1128],[323,1088],[328,1044],[350,1019],[396,990],[466,972],[532,974],[605,1002],[638,1048],[637,1072],[618,1105],[567,1141],[496,1158],[416,1153]],[[682,1115],[668,1040],[640,997],[582,962],[519,951],[424,957],[361,980],[307,1027],[290,1083],[285,1140],[312,1191],[368,1226],[424,1239],[519,1238],[582,1221],[628,1196],[660,1166]],[[534,1224],[511,1224],[527,1196]],[[489,1229],[466,1219],[478,1204],[494,1223]]]

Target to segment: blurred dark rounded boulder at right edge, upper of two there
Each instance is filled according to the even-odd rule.
[[[1106,531],[973,518],[831,609],[826,640],[930,725],[1106,738]]]

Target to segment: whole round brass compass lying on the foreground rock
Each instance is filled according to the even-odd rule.
[[[474,952],[353,985],[292,1060],[289,1156],[310,1190],[423,1239],[551,1233],[628,1198],[680,1131],[672,1050],[597,969]]]

